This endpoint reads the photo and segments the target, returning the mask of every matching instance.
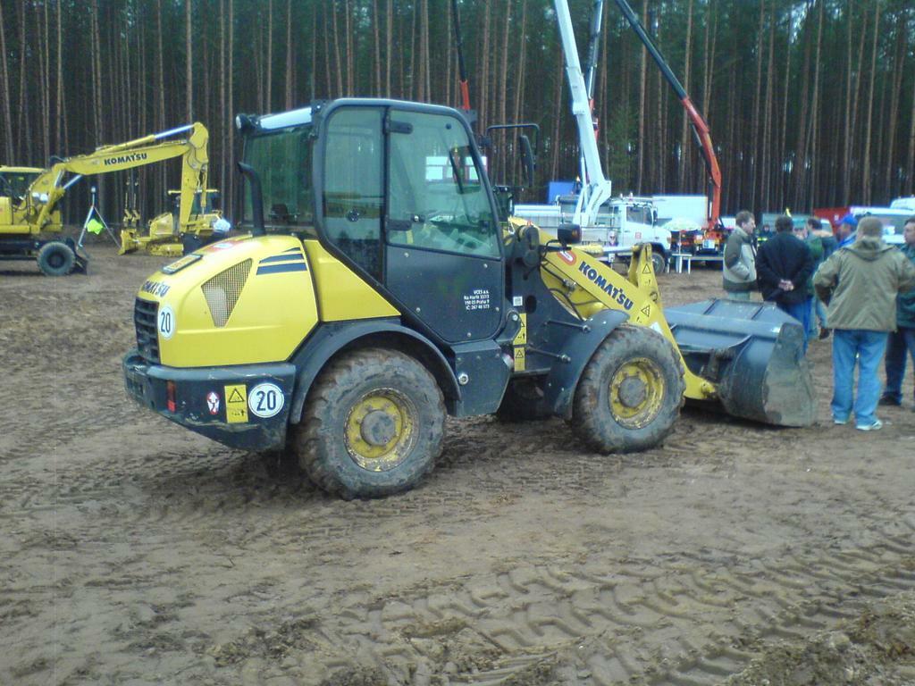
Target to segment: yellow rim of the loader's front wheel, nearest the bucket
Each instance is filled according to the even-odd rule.
[[[630,359],[613,372],[609,387],[610,413],[627,429],[650,424],[661,411],[664,378],[647,358]]]

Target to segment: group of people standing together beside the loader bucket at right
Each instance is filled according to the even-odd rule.
[[[815,218],[795,227],[782,216],[759,245],[753,215],[741,211],[736,219],[723,260],[727,297],[749,300],[758,290],[801,323],[805,352],[811,338],[832,331],[834,423],[854,417],[861,431],[881,428],[877,405],[901,405],[907,358],[915,370],[915,217],[906,220],[900,249],[883,241],[875,217],[847,215],[833,232]],[[878,376],[884,352],[885,388]]]

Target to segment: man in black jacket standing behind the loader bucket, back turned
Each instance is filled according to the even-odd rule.
[[[791,217],[782,215],[775,220],[775,237],[760,245],[756,254],[756,273],[763,299],[801,323],[806,351],[810,328],[807,280],[813,274],[813,256],[804,241],[792,235],[793,229]]]

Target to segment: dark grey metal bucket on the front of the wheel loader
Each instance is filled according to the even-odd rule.
[[[810,426],[816,397],[801,324],[775,305],[705,300],[665,310],[686,366],[711,381],[725,412]]]

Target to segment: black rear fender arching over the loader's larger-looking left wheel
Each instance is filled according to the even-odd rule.
[[[293,355],[292,362],[296,365],[296,387],[293,391],[292,409],[289,413],[289,423],[299,423],[305,407],[305,399],[311,384],[318,378],[318,374],[328,359],[331,359],[343,348],[351,347],[360,339],[375,338],[379,343],[384,338],[408,338],[414,345],[414,350],[406,352],[419,352],[421,361],[429,367],[435,376],[449,411],[458,404],[461,397],[460,385],[455,377],[454,370],[448,364],[441,350],[436,348],[431,340],[413,329],[404,327],[397,319],[366,319],[336,324],[322,324],[318,327],[305,344]],[[403,346],[400,347],[403,349]]]

